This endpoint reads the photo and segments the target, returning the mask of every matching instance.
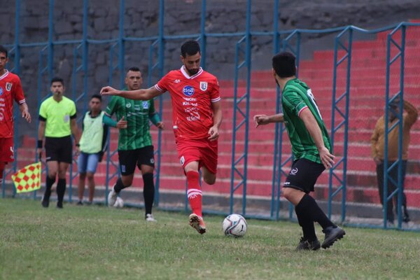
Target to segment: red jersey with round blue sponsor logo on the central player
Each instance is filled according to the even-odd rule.
[[[156,85],[172,97],[172,125],[176,139],[207,139],[213,126],[211,103],[219,102],[218,80],[200,70],[189,76],[184,66],[167,73]]]

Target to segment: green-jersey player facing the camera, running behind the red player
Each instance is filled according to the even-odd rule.
[[[130,68],[125,76],[127,89],[139,90],[142,83],[140,69]],[[110,118],[114,113],[119,120],[118,123]],[[109,192],[108,203],[113,206],[118,193],[124,188],[132,186],[134,170],[137,165],[144,181],[146,221],[156,221],[152,214],[153,200],[155,199],[155,184],[153,182],[155,159],[149,120],[156,127],[163,129],[164,125],[155,111],[153,99],[140,101],[114,96],[106,106],[104,123],[119,129],[118,160],[121,171],[121,177]]]

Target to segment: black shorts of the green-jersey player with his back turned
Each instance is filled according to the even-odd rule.
[[[283,188],[295,188],[304,193],[313,192],[316,180],[324,170],[325,167],[321,163],[306,158],[295,160]]]

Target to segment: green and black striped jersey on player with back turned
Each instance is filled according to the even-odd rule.
[[[309,109],[311,111],[321,129],[324,145],[331,152],[330,137],[311,89],[297,78],[288,80],[283,88],[281,106],[284,124],[290,138],[295,160],[306,158],[313,162],[322,163],[314,139],[312,139],[311,134],[309,134],[302,119],[299,117],[302,110]]]

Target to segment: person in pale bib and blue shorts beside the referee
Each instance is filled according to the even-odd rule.
[[[108,125],[102,123],[104,111],[102,111],[102,97],[93,94],[89,102],[90,111],[85,113],[82,123],[82,137],[80,137],[80,155],[78,157],[78,205],[83,205],[83,194],[85,193],[85,181],[89,186],[89,200],[92,204],[94,197],[94,174],[98,162],[102,161],[106,151],[106,140],[108,137]]]

